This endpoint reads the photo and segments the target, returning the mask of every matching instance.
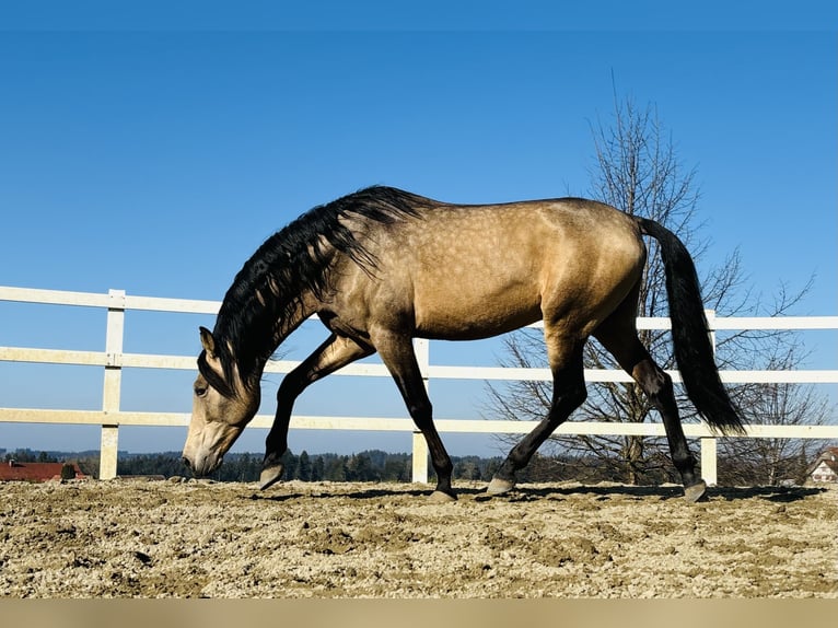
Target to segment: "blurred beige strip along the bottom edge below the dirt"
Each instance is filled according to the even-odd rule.
[[[835,600],[0,600],[2,626],[30,628],[722,628],[830,625]]]

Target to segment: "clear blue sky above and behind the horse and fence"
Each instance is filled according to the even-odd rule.
[[[616,88],[656,107],[697,171],[711,242],[701,264],[740,247],[769,298],[814,274],[796,313],[838,313],[838,38],[817,15],[783,26],[743,12],[714,28],[707,15],[632,23],[617,10],[594,22],[524,3],[504,22],[461,3],[447,30],[417,11],[267,9],[264,22],[240,13],[219,30],[220,5],[206,4],[198,28],[183,4],[153,19],[0,10],[0,284],[218,300],[270,233],[366,185],[462,202],[585,195],[591,123],[609,123]],[[97,312],[0,303],[0,317],[3,346],[104,347]],[[137,314],[126,350],[197,353],[198,324],[212,321]],[[292,337],[289,356],[321,337]],[[491,363],[493,348],[441,351]],[[0,404],[100,407],[101,373],[60,369],[0,364]],[[190,379],[126,373],[123,405],[186,411]],[[312,388],[300,411],[405,416],[388,382],[379,392],[353,381],[363,403],[334,410],[347,381]],[[432,385],[442,418],[475,418],[480,394]],[[126,429],[120,446],[176,450],[183,435]],[[399,438],[300,434],[291,447],[407,450]],[[257,430],[241,446],[259,451],[263,439]],[[455,453],[477,447],[468,439],[445,437]],[[0,425],[0,447],[63,444],[94,449],[98,433]]]

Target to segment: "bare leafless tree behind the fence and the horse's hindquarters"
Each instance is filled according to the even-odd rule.
[[[701,224],[698,222],[697,206],[699,194],[695,186],[695,170],[686,168],[678,160],[671,136],[661,124],[653,106],[638,108],[633,101],[619,102],[615,98],[613,124],[602,121],[591,125],[594,140],[595,161],[590,170],[591,189],[587,196],[603,200],[627,213],[650,218],[674,231],[685,242],[697,260],[707,249],[707,242],[698,239]],[[654,251],[656,242],[648,243],[649,263],[644,270],[640,293],[640,316],[666,316],[666,292],[661,257]],[[760,310],[760,301],[747,288],[742,270],[738,251],[734,251],[723,263],[702,277],[705,303],[708,309],[721,315],[754,313]],[[794,295],[783,291],[775,301],[773,309],[764,314],[788,313],[800,302],[805,289]],[[674,369],[675,360],[668,332],[641,329],[640,340],[647,346],[654,360],[664,369]],[[504,339],[503,365],[544,368],[547,364],[544,341],[539,332],[523,329]],[[785,332],[743,330],[719,339],[717,344],[719,363],[722,368],[757,368],[760,362],[768,367],[766,356],[777,353],[771,347],[794,347],[795,339]],[[767,352],[768,351],[768,352]],[[787,353],[796,361],[799,354]],[[748,362],[748,365],[743,365]],[[585,365],[591,369],[618,368],[613,357],[597,342],[591,341],[585,349]],[[763,367],[758,367],[763,368]],[[783,417],[802,420],[820,406],[814,397],[805,403],[806,396],[794,387],[785,392],[771,386],[736,386],[732,392],[734,403],[743,409],[746,422],[754,418],[752,408],[768,404],[769,397],[782,395]],[[810,393],[813,395],[814,393]],[[551,391],[546,382],[515,382],[505,386],[489,385],[492,418],[512,420],[540,420],[547,412]],[[685,420],[696,420],[696,412],[685,395],[679,395],[679,407]],[[779,407],[779,402],[776,404]],[[805,408],[803,407],[805,406]],[[805,411],[804,411],[805,410]],[[615,422],[642,422],[656,415],[652,405],[633,383],[604,383],[589,386],[585,404],[572,418]],[[765,412],[760,416],[767,416]],[[502,437],[501,437],[502,438]],[[509,439],[511,440],[511,439]],[[726,440],[725,440],[726,441]],[[735,446],[742,452],[746,446],[741,441]],[[675,480],[668,464],[665,439],[642,437],[554,437],[547,446],[560,453],[570,465],[573,477],[587,475],[587,467],[598,467],[601,477],[630,484]],[[763,443],[765,445],[767,443]],[[756,445],[750,445],[756,446]],[[750,452],[749,460],[757,455]],[[785,460],[788,456],[777,456]]]

